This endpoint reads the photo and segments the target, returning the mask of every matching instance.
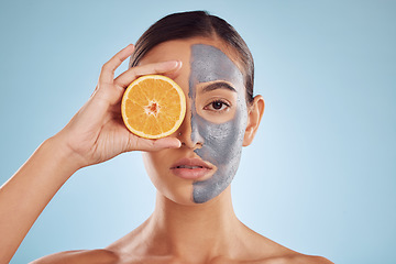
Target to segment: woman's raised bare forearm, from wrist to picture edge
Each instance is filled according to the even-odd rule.
[[[0,263],[8,263],[40,213],[78,169],[67,147],[45,141],[0,188]]]

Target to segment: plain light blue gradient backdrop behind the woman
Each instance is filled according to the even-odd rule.
[[[103,63],[196,9],[242,34],[266,100],[232,184],[239,218],[339,264],[396,263],[395,1],[1,1],[0,184],[84,105]],[[150,216],[154,195],[140,153],[84,168],[11,263],[103,248]]]

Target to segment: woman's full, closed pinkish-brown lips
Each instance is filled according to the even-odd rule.
[[[172,165],[174,175],[185,179],[198,179],[208,175],[213,166],[199,158],[182,158]]]

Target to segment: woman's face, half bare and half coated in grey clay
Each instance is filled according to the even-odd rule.
[[[175,81],[186,95],[187,112],[172,135],[182,147],[143,153],[157,190],[178,204],[217,197],[237,173],[248,109],[243,75],[230,54],[219,42],[195,37],[162,43],[140,62],[183,63]]]

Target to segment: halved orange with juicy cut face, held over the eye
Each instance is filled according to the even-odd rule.
[[[127,88],[121,114],[132,133],[145,139],[165,138],[180,127],[186,114],[186,97],[173,79],[145,75]]]

